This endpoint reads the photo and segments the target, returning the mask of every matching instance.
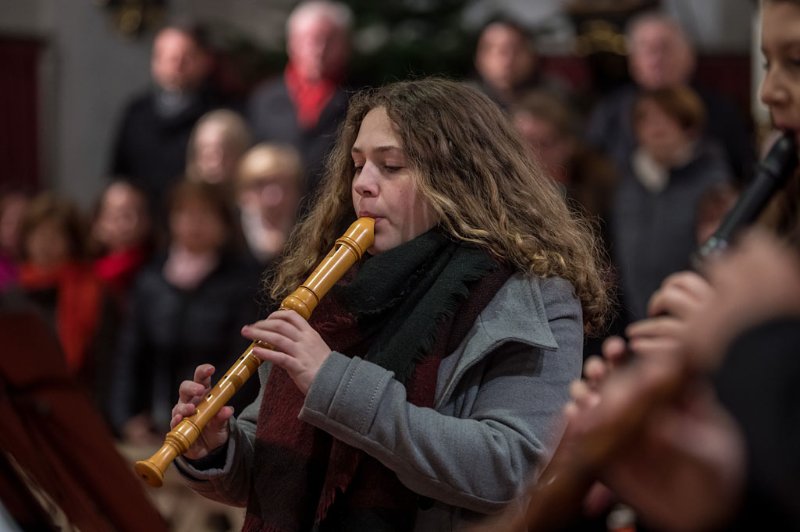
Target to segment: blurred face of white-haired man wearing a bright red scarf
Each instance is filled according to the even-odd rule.
[[[324,13],[309,13],[290,27],[286,51],[297,74],[307,81],[339,77],[347,64],[347,31]]]

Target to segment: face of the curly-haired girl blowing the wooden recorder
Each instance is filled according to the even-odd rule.
[[[353,208],[359,217],[375,218],[371,253],[408,242],[436,224],[437,217],[417,191],[403,145],[383,107],[364,117],[351,154]]]

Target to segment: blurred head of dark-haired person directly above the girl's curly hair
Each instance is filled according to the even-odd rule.
[[[478,88],[504,109],[532,89],[562,96],[568,90],[565,82],[542,72],[530,30],[510,17],[495,17],[483,26],[474,66]]]

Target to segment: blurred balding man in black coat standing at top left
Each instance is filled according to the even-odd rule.
[[[166,192],[184,175],[192,128],[223,103],[208,83],[212,59],[206,41],[196,24],[161,29],[153,40],[153,86],[126,105],[117,126],[110,175],[144,189],[158,214]]]

